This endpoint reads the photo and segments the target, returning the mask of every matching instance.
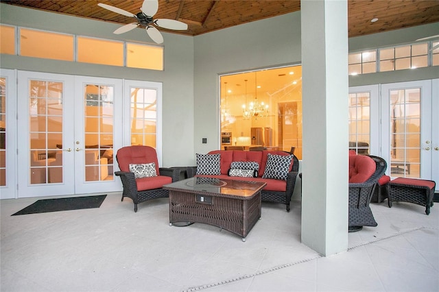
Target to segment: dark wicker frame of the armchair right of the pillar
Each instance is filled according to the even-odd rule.
[[[377,165],[375,172],[366,182],[349,184],[349,232],[361,230],[363,226],[375,227],[378,225],[373,217],[372,210],[370,210],[369,203],[379,178],[381,178],[387,169],[387,163],[381,157],[372,155],[369,155],[369,157],[372,158]]]

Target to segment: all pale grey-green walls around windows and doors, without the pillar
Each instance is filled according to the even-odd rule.
[[[0,3],[1,23],[114,40],[150,42],[143,29],[112,34],[119,25]],[[437,34],[439,23],[349,39],[349,51],[410,43]],[[164,166],[195,165],[195,153],[219,147],[219,74],[300,64],[300,12],[200,36],[163,33],[165,70],[151,71],[1,56],[1,67],[49,73],[163,82]],[[439,66],[349,77],[350,86],[431,79]],[[202,144],[202,138],[208,138]]]

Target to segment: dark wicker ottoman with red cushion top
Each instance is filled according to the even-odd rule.
[[[389,208],[392,207],[392,202],[409,202],[425,206],[425,214],[430,214],[436,182],[414,178],[396,178],[388,183],[388,187]]]

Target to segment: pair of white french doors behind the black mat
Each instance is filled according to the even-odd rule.
[[[19,71],[18,197],[119,191],[122,81]]]

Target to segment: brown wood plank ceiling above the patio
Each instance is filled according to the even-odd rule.
[[[137,14],[140,12],[143,0],[8,0],[2,2],[124,25],[132,23],[133,19],[100,8],[97,3],[106,3]],[[183,21],[189,25],[187,31],[162,28],[161,30],[197,36],[298,10],[300,10],[299,0],[158,0],[158,12],[154,19]],[[378,21],[372,23],[370,20],[374,18]],[[439,22],[438,0],[348,0],[349,37],[435,22]]]

